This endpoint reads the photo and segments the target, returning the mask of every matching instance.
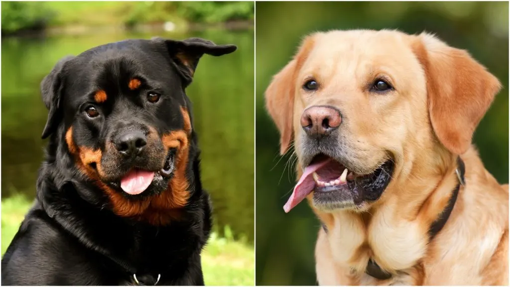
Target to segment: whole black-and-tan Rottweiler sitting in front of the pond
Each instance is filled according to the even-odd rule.
[[[50,137],[4,285],[203,285],[211,206],[185,88],[234,45],[126,40],[61,60],[41,83]]]

